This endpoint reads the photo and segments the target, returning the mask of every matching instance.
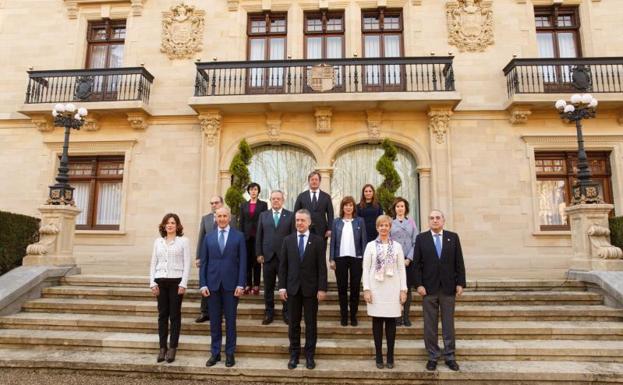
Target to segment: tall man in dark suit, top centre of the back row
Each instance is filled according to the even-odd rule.
[[[331,196],[320,191],[320,173],[312,171],[307,176],[309,190],[299,194],[294,203],[294,212],[306,209],[311,213],[312,224],[310,232],[326,240],[331,236],[331,224],[333,224],[333,202]],[[326,245],[325,245],[326,246]]]

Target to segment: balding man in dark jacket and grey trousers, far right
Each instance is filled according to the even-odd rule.
[[[443,355],[446,365],[459,370],[455,358],[454,306],[455,299],[466,286],[465,263],[461,242],[456,233],[443,229],[445,217],[439,210],[428,216],[429,231],[418,234],[413,250],[415,286],[422,299],[424,312],[424,345],[428,352],[427,370],[437,368]],[[439,349],[439,312],[444,350]]]

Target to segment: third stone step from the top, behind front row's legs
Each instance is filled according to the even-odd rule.
[[[156,301],[122,301],[96,300],[73,298],[40,298],[27,301],[24,311],[56,312],[56,313],[90,313],[116,315],[152,315],[157,314]],[[184,301],[182,310],[185,317],[196,317],[199,314],[199,302]],[[421,306],[411,308],[414,319],[421,317]],[[238,306],[238,317],[241,319],[262,319],[264,306],[262,304],[241,303]],[[359,313],[365,320],[365,307]],[[456,319],[460,321],[621,321],[623,309],[613,309],[603,305],[464,305],[456,307]],[[275,309],[277,318],[281,315],[280,306]],[[321,304],[318,312],[320,320],[339,319],[337,305]]]

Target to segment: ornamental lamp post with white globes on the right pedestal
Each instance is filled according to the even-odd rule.
[[[575,94],[571,96],[571,102],[565,100],[556,101],[556,109],[560,117],[568,122],[575,122],[578,136],[578,175],[573,185],[572,205],[603,203],[599,196],[599,183],[591,179],[591,170],[584,150],[584,136],[582,135],[582,119],[595,117],[597,99],[590,94]]]

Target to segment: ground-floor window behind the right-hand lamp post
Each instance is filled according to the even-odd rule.
[[[588,152],[594,181],[599,182],[599,196],[612,203],[610,154]],[[541,230],[568,230],[565,208],[572,199],[577,175],[577,152],[538,152],[535,154],[539,223]]]

